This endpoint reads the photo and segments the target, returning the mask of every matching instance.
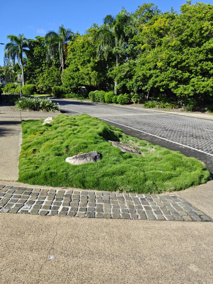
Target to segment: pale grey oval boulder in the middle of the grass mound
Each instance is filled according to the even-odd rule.
[[[101,160],[101,158],[102,158],[102,155],[99,152],[93,151],[93,152],[88,152],[88,153],[68,157],[67,159],[65,159],[65,161],[70,163],[71,165],[82,165],[85,163],[98,162]]]

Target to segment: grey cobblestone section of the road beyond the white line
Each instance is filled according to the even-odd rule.
[[[169,114],[111,117],[110,120],[213,154],[213,121]]]

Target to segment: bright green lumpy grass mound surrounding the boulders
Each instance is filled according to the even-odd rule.
[[[23,121],[19,182],[82,189],[161,193],[182,190],[210,180],[204,164],[180,152],[127,136],[122,130],[89,115],[58,115]],[[143,156],[123,153],[108,140],[137,147]],[[98,151],[97,163],[71,165],[67,157]]]

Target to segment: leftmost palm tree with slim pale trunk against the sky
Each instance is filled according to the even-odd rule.
[[[7,36],[10,39],[10,42],[5,46],[5,57],[12,59],[15,64],[15,58],[20,61],[20,65],[22,67],[22,75],[23,75],[23,86],[25,84],[24,77],[24,68],[23,68],[23,53],[26,56],[29,54],[29,41],[24,36],[24,34],[19,34],[18,36],[11,34]]]

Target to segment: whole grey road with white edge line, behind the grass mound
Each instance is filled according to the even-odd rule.
[[[154,145],[180,151],[213,173],[213,121],[101,103],[55,99],[67,115],[86,113]]]

